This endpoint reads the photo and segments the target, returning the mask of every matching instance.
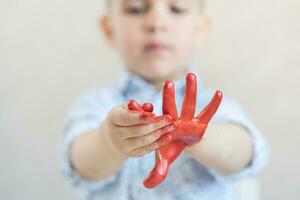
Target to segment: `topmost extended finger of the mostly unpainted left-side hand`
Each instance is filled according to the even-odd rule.
[[[154,113],[128,110],[125,105],[114,108],[110,112],[110,118],[117,126],[148,124],[159,119]]]

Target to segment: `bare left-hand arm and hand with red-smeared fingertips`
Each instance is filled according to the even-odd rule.
[[[108,178],[128,157],[143,156],[166,144],[162,136],[173,129],[168,117],[153,119],[119,106],[99,128],[81,134],[73,142],[71,162],[89,180]]]

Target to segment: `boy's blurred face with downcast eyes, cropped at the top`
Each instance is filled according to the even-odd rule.
[[[102,25],[127,68],[148,81],[189,65],[207,24],[199,0],[111,0]]]

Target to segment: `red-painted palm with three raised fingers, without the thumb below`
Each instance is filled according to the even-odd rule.
[[[178,117],[174,84],[166,81],[163,90],[163,114],[171,115],[177,123],[177,129],[172,133],[173,139],[181,140],[190,146],[199,142],[204,135],[208,122],[217,111],[221,100],[222,93],[216,91],[211,102],[194,117],[197,99],[197,78],[194,74],[189,73],[186,76],[186,88],[184,100],[182,103],[181,116]]]

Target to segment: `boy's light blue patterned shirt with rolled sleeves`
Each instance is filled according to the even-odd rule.
[[[209,103],[215,89],[204,88],[200,74],[195,69],[189,71],[196,73],[198,77],[196,109],[196,114],[198,114]],[[180,112],[185,87],[184,77],[174,82],[176,102]],[[119,80],[86,92],[71,106],[66,117],[61,142],[62,169],[63,174],[71,180],[73,185],[82,189],[84,199],[228,200],[232,199],[233,181],[254,175],[266,166],[269,160],[269,149],[265,139],[249,120],[241,105],[224,94],[223,101],[212,118],[212,122],[227,121],[245,127],[254,144],[254,156],[251,163],[238,173],[218,174],[212,169],[207,169],[188,154],[182,153],[172,164],[165,181],[149,190],[142,183],[154,166],[154,152],[143,157],[129,158],[116,174],[100,181],[88,181],[72,168],[69,160],[69,147],[77,136],[98,127],[112,108],[126,103],[129,99],[135,99],[140,103],[151,102],[154,104],[154,112],[161,114],[161,95],[161,90],[157,91],[139,76],[123,71]]]

